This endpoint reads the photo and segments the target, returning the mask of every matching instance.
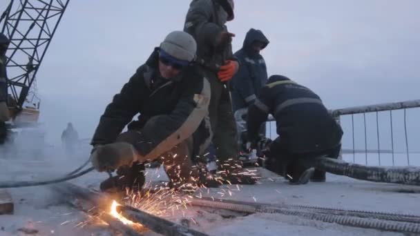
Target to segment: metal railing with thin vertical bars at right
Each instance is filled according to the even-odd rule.
[[[376,153],[378,157],[378,160],[376,163],[379,164],[379,166],[381,166],[381,164],[383,164],[384,162],[382,160],[384,155],[391,155],[392,166],[404,165],[404,164],[401,164],[401,161],[400,163],[396,162],[396,155],[398,154],[400,155],[399,157],[401,157],[401,154],[403,153],[405,154],[405,157],[406,157],[405,163],[408,164],[408,166],[413,165],[413,164],[415,166],[420,166],[420,155],[419,155],[419,158],[414,159],[414,161],[417,161],[416,163],[413,163],[413,160],[410,160],[410,154],[418,155],[420,153],[420,150],[414,150],[414,149],[410,150],[410,146],[420,148],[420,145],[414,145],[414,143],[410,142],[409,140],[408,132],[411,132],[412,134],[420,135],[420,132],[419,132],[420,129],[417,130],[417,127],[415,128],[415,130],[408,129],[407,110],[408,109],[413,110],[412,108],[420,108],[420,99],[388,103],[388,104],[374,104],[374,105],[369,105],[369,106],[355,106],[355,107],[350,107],[350,108],[330,110],[331,114],[334,117],[336,117],[337,121],[341,124],[344,130],[342,153],[345,155],[348,155],[348,154],[353,155],[353,162],[357,162],[356,154],[364,153],[365,164],[370,164],[368,161],[368,155],[372,155],[373,153]],[[401,110],[401,111],[397,111],[397,110]],[[370,122],[367,119],[368,115],[371,116]],[[357,118],[356,116],[361,117],[361,125],[359,126],[356,126],[356,123],[355,123],[356,121],[355,118]],[[381,119],[379,119],[380,117]],[[388,119],[388,121],[385,122],[383,121],[384,119]],[[414,120],[419,120],[419,119],[420,119],[420,112],[419,112],[419,118],[414,119]],[[387,127],[384,127],[384,124],[386,124]],[[414,125],[417,125],[417,123]],[[276,124],[273,122],[273,119],[267,122],[267,126],[268,126],[267,135],[271,139],[274,139],[277,136],[277,134],[276,134]],[[417,126],[420,127],[420,122],[418,122]],[[360,131],[360,130],[362,134],[356,135],[356,131]],[[402,130],[403,132],[402,138],[396,137],[397,136],[396,131],[398,130],[400,131]],[[349,135],[351,135],[351,137],[349,137]],[[364,147],[356,148],[356,143],[360,143],[360,141],[362,141],[361,140],[362,137],[364,137],[364,140],[363,140],[364,144],[362,144]],[[350,141],[349,139],[351,140],[351,148],[348,147],[348,142]],[[372,141],[372,139],[376,139],[375,141],[376,144],[374,144],[374,147],[372,145],[370,146],[368,145],[368,140]],[[419,139],[420,139],[420,136],[419,136]],[[416,139],[416,140],[419,140],[419,139]],[[390,145],[384,144],[385,142],[390,142]],[[397,144],[401,144],[401,145],[403,144],[405,150],[403,150],[403,152],[401,152],[401,150],[396,150]],[[385,165],[388,165],[388,164],[385,164]]]

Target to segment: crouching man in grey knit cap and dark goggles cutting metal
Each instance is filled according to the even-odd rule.
[[[102,182],[102,191],[140,190],[144,164],[155,160],[164,165],[171,188],[218,186],[191,159],[211,140],[210,85],[193,64],[196,48],[188,33],[171,32],[106,107],[91,141],[91,161],[100,172],[117,175]]]

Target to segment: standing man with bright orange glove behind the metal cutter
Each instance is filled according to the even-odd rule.
[[[255,179],[244,174],[238,160],[236,123],[227,85],[239,68],[231,46],[235,35],[225,25],[234,18],[233,8],[233,0],[193,0],[184,31],[197,41],[200,70],[211,86],[209,117],[219,173],[226,184],[254,184]]]

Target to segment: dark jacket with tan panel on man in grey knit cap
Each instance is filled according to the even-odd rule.
[[[138,120],[131,122],[128,129],[140,131],[141,140],[135,148],[146,159],[162,155],[195,132],[209,137],[209,126],[204,124],[210,101],[209,82],[196,66],[187,66],[171,79],[160,77],[158,50],[155,48],[106,107],[91,144],[112,143],[138,113]]]

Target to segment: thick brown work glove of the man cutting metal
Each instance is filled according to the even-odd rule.
[[[90,161],[93,167],[99,172],[115,170],[121,166],[131,166],[134,161],[140,159],[133,145],[126,142],[117,142],[95,146]]]

